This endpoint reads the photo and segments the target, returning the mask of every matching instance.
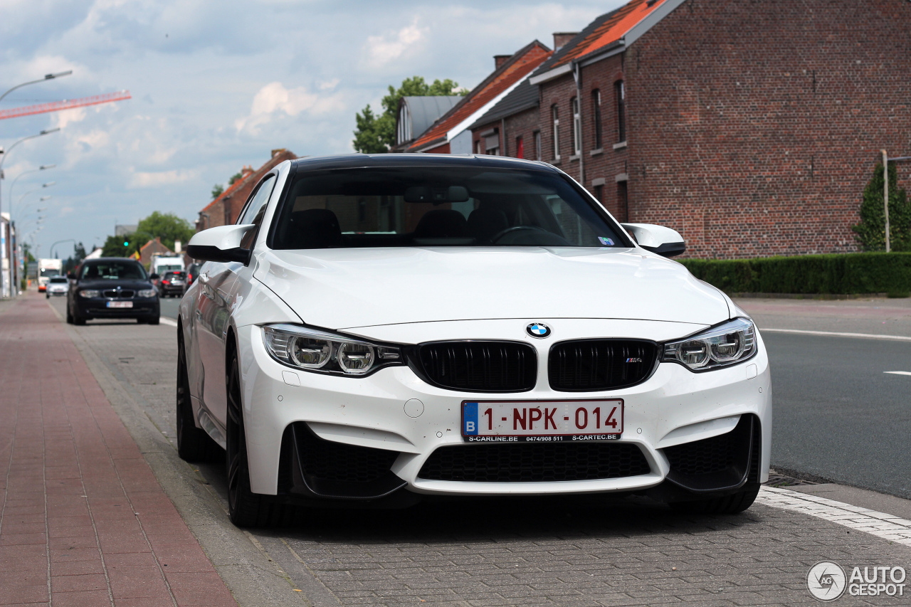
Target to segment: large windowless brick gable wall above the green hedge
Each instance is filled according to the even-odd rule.
[[[877,150],[911,154],[909,24],[904,0],[688,0],[626,53],[630,219],[695,257],[855,251]]]

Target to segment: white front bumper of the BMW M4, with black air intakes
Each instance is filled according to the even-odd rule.
[[[629,333],[607,326],[596,334]],[[547,352],[553,341],[538,341],[534,344],[539,354],[537,386],[519,395],[462,394],[437,388],[415,376],[407,366],[389,367],[358,378],[322,376],[275,362],[262,344],[259,326],[241,327],[238,337],[251,489],[256,493],[363,500],[383,498],[398,489],[436,495],[541,495],[641,492],[663,483],[662,486],[671,484],[692,495],[707,495],[768,478],[772,396],[761,337],[757,339],[757,355],[740,365],[696,374],[682,365],[662,363],[638,386],[586,393],[557,392],[548,386]],[[577,461],[602,457],[613,449],[619,458],[639,454],[636,457],[644,461],[645,468],[640,461],[632,468],[623,468],[627,473],[605,473],[605,478],[581,480],[551,475],[533,481],[477,481],[428,474],[428,469],[438,468],[439,462],[434,458],[441,457],[441,449],[449,453],[453,449],[539,449],[538,458],[547,459],[562,449],[557,446],[570,445],[479,445],[463,440],[460,417],[464,400],[516,397],[541,401],[622,398],[625,419],[619,440],[573,443],[572,448],[577,451],[589,450],[561,451],[558,455]],[[406,406],[413,399],[423,405],[416,416],[414,402]],[[743,441],[747,441],[746,447]],[[732,478],[730,466],[726,468],[727,476],[691,478],[705,471],[706,458],[711,465],[719,443],[745,454],[745,459],[734,462],[734,468],[743,468],[742,478]],[[690,447],[678,447],[683,445]],[[619,449],[625,450],[626,455]],[[470,457],[461,458],[463,465],[465,461],[470,465],[477,453],[466,451]],[[322,464],[312,463],[312,458],[317,457],[313,454],[322,454]],[[497,457],[504,454],[496,452]],[[518,457],[519,452],[507,455]],[[531,454],[531,458],[535,457]],[[672,465],[675,458],[677,469]],[[451,462],[452,458],[446,461]]]

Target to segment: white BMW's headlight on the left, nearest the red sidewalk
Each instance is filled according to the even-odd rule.
[[[401,350],[294,324],[262,327],[266,350],[284,365],[340,376],[364,376],[384,366],[404,365]]]

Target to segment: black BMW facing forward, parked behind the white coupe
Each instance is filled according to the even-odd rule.
[[[90,259],[68,278],[67,323],[135,318],[140,323],[159,324],[159,292],[141,263],[118,257]]]

